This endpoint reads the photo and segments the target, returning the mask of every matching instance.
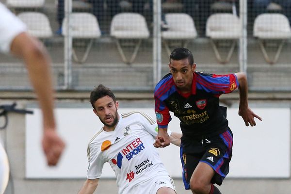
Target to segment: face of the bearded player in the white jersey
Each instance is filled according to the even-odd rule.
[[[99,117],[100,121],[107,129],[115,127],[119,120],[119,115],[117,113],[118,102],[114,102],[111,97],[105,96],[97,99],[94,106],[94,113]]]

